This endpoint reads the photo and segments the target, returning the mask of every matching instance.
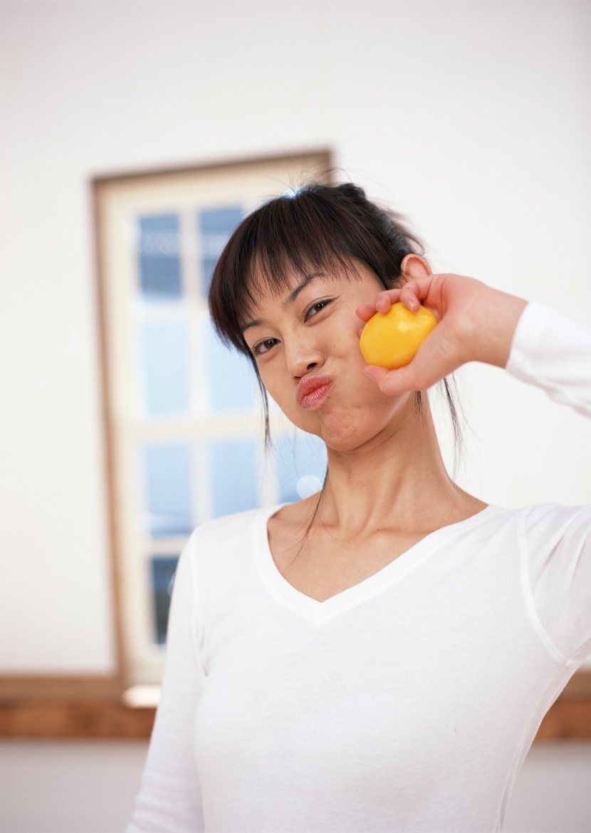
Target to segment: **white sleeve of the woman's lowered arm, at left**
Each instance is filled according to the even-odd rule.
[[[191,555],[195,534],[181,553],[172,591],[161,703],[151,735],[142,786],[126,833],[202,833],[201,788],[191,727],[204,671]]]

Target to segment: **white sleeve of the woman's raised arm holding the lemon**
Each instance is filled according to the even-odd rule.
[[[506,369],[591,417],[591,329],[529,304]],[[534,506],[525,524],[536,615],[559,654],[578,664],[591,653],[591,506]]]

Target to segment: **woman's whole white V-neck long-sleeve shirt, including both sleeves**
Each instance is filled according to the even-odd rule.
[[[526,307],[507,370],[591,416],[591,331]],[[277,506],[209,521],[176,575],[127,833],[492,833],[591,652],[591,506],[488,506],[315,601]]]

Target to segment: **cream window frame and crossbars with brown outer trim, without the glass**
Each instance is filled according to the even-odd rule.
[[[148,635],[149,600],[140,590],[146,580],[148,553],[159,549],[163,555],[177,555],[187,537],[166,536],[158,543],[153,538],[148,542],[150,536],[138,529],[140,481],[133,445],[159,438],[205,442],[213,436],[211,431],[221,431],[223,435],[230,431],[232,438],[237,428],[240,433],[246,431],[245,436],[260,436],[262,445],[259,416],[231,413],[226,417],[203,412],[201,416],[188,413],[177,421],[174,417],[146,418],[137,412],[141,394],[135,388],[139,382],[137,373],[132,370],[136,367],[132,350],[133,322],[146,315],[150,319],[155,314],[157,320],[162,312],[167,318],[171,312],[176,315],[178,311],[174,307],[171,311],[167,305],[156,305],[155,311],[150,305],[144,307],[141,304],[136,308],[131,270],[132,260],[137,256],[133,247],[127,244],[127,223],[144,212],[173,211],[178,213],[181,226],[188,231],[192,226],[191,217],[200,206],[215,206],[220,201],[224,205],[227,200],[232,204],[235,201],[243,206],[246,204],[248,210],[267,194],[299,184],[303,177],[319,177],[326,181],[329,171],[330,153],[310,150],[291,156],[257,157],[131,176],[100,177],[93,181],[112,574],[117,599],[120,669],[127,685],[158,682],[163,663],[163,648],[152,642]],[[193,258],[198,248],[197,241],[193,240],[186,250],[189,257],[186,252],[181,255],[183,273],[193,272]],[[201,287],[196,285],[200,276],[195,272],[192,277],[193,281],[183,292],[180,312],[202,316],[206,309]],[[183,282],[185,280],[186,276]],[[195,370],[197,376],[201,376],[199,368]],[[279,416],[277,428],[279,423],[286,423],[286,418]],[[281,430],[285,430],[285,426]]]

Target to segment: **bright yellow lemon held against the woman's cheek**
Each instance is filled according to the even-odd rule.
[[[437,319],[426,307],[410,312],[401,303],[375,316],[361,332],[360,348],[365,362],[376,367],[404,367],[412,362],[422,342],[436,327]]]

